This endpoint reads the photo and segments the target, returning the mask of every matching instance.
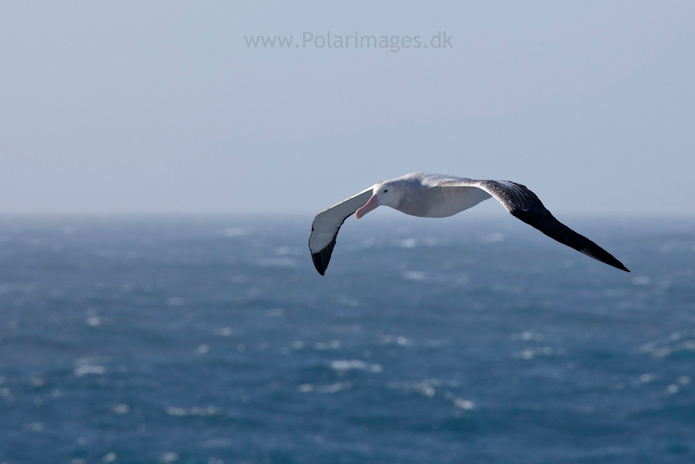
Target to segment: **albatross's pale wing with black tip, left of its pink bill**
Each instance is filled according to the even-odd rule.
[[[347,200],[341,201],[337,205],[321,211],[314,217],[314,222],[311,224],[311,235],[309,236],[309,250],[311,251],[311,259],[314,261],[314,266],[319,271],[319,274],[323,275],[326,272],[340,226],[343,225],[345,219],[364,206],[371,196],[372,188],[370,187]]]

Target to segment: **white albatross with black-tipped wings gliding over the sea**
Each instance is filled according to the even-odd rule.
[[[606,250],[579,235],[545,209],[535,193],[508,180],[473,180],[465,177],[414,172],[386,180],[321,211],[314,217],[309,250],[314,266],[323,275],[335,247],[338,230],[353,214],[361,218],[377,206],[390,206],[411,216],[453,216],[494,197],[514,217],[550,238],[610,266],[630,272]]]

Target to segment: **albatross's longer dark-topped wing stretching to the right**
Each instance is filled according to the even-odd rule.
[[[438,187],[478,187],[502,203],[514,217],[535,227],[548,237],[610,266],[630,272],[623,263],[606,250],[555,219],[536,194],[521,184],[507,180],[465,179],[445,181]]]

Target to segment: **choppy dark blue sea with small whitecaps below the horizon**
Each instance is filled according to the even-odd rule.
[[[0,219],[0,462],[695,461],[695,221],[310,221]]]

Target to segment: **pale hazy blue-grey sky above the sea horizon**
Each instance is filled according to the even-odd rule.
[[[695,214],[695,2],[0,3],[1,213],[313,213],[412,171]]]

